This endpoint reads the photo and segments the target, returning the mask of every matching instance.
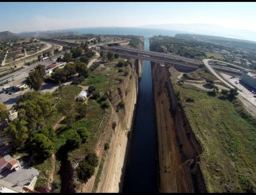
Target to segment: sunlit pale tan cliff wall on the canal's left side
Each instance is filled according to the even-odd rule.
[[[107,126],[105,129],[113,134],[96,192],[119,192],[123,186],[125,157],[129,148],[138,93],[138,75],[134,63],[131,65],[129,75],[125,77],[123,84],[110,94],[113,112],[109,124],[116,122],[117,126],[115,130],[112,126]],[[125,108],[117,110],[121,100],[125,102]]]

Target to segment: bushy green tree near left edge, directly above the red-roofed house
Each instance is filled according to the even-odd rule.
[[[26,124],[27,122],[25,120],[15,118],[5,129],[5,134],[11,139],[15,147],[23,147],[28,139],[28,128]]]

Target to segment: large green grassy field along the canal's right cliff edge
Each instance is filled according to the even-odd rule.
[[[212,97],[190,85],[175,88],[203,149],[200,165],[207,190],[223,192],[225,185],[234,192],[246,192],[250,185],[256,188],[256,119],[239,100],[224,100],[220,93]],[[185,103],[187,98],[195,101]]]

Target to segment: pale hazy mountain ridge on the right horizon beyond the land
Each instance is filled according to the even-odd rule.
[[[141,26],[143,28],[161,28],[165,30],[180,30],[191,34],[205,34],[211,36],[224,36],[241,40],[256,41],[256,32],[249,30],[231,30],[214,24],[152,24]]]

